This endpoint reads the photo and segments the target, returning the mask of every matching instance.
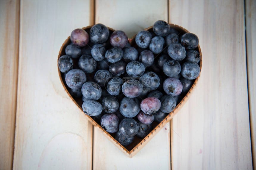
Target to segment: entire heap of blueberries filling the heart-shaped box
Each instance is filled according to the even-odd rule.
[[[123,146],[146,137],[200,74],[198,37],[162,20],[134,41],[103,24],[75,29],[70,41],[58,60],[68,91]]]

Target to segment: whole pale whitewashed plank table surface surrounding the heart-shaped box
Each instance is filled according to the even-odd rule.
[[[256,2],[0,1],[0,169],[253,169]],[[129,37],[165,20],[199,37],[203,68],[188,102],[128,158],[70,100],[57,72],[75,28]]]

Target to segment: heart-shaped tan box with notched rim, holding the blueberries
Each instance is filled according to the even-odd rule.
[[[182,35],[184,33],[188,33],[188,30],[186,30],[185,28],[182,28],[181,26],[179,25],[175,25],[175,24],[169,24],[171,28],[175,28],[177,31],[179,31],[179,33]],[[87,33],[89,33],[90,31],[90,28],[92,26],[87,26],[87,27],[84,27],[82,29],[84,29]],[[153,31],[153,26],[149,27],[149,28],[146,28],[144,30],[147,30],[147,31]],[[110,35],[113,31],[115,31],[114,29],[112,28],[109,28],[109,31],[110,31]],[[135,35],[136,36],[136,35]],[[135,36],[133,36],[131,39],[129,39],[129,43],[131,44],[131,46],[134,46],[135,48],[137,47],[136,43],[135,43]],[[62,55],[65,55],[65,48],[68,44],[71,43],[71,40],[70,40],[70,36],[68,36],[68,38],[65,40],[65,42],[62,44],[61,48],[60,48],[60,51],[59,51],[59,55],[58,55],[58,60],[59,58],[62,56]],[[200,66],[200,69],[201,69],[201,72],[202,72],[202,52],[201,52],[201,48],[200,46],[198,46],[196,49],[195,49],[197,52],[199,52],[200,54],[200,61],[199,61],[199,66]],[[57,60],[57,61],[58,61]],[[83,113],[83,110],[82,110],[82,98],[77,98],[77,99],[74,99],[71,94],[68,92],[68,86],[67,84],[65,83],[65,77],[64,77],[64,74],[60,72],[59,70],[59,67],[58,67],[58,72],[59,72],[59,77],[60,77],[60,81],[65,89],[65,91],[68,93],[69,97],[71,98],[71,100],[77,105],[77,107],[81,110],[81,114],[84,114]],[[201,73],[200,73],[201,74]],[[166,114],[167,116],[163,119],[163,121],[161,121],[160,123],[157,123],[157,122],[153,122],[152,123],[152,126],[153,126],[153,130],[144,138],[144,139],[140,139],[138,137],[135,136],[135,139],[134,141],[128,145],[128,146],[123,146],[121,145],[115,138],[114,138],[114,134],[113,133],[108,133],[107,131],[105,131],[101,125],[99,123],[97,123],[92,117],[85,115],[85,117],[88,119],[88,121],[93,124],[93,126],[95,126],[97,129],[99,129],[114,145],[116,145],[123,153],[125,153],[129,158],[132,158],[136,153],[138,153],[139,150],[141,150],[142,147],[144,147],[150,139],[152,139],[158,131],[160,131],[163,126],[169,122],[176,113],[178,113],[178,111],[182,108],[182,106],[185,104],[185,102],[187,102],[188,98],[191,96],[192,92],[194,91],[196,85],[197,85],[197,82],[199,81],[199,77],[200,75],[193,80],[193,85],[191,86],[191,89],[188,91],[188,93],[182,98],[182,100],[177,103],[175,109],[169,113],[169,114]]]

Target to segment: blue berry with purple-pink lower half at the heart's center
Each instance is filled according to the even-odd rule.
[[[122,85],[122,92],[126,97],[138,97],[141,95],[142,91],[142,84],[135,79],[128,80]]]

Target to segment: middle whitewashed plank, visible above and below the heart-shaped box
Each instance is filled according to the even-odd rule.
[[[167,7],[167,1],[97,0],[95,23],[103,23],[115,30],[123,30],[131,38],[144,28],[152,26],[155,21],[167,20]],[[150,17],[145,15],[145,12],[150,13]],[[169,129],[168,125],[165,126],[166,129]],[[170,169],[169,135],[169,131],[163,128],[142,150],[129,159],[98,129],[94,128],[93,169],[102,169],[102,167],[128,169],[131,166],[136,169]]]

